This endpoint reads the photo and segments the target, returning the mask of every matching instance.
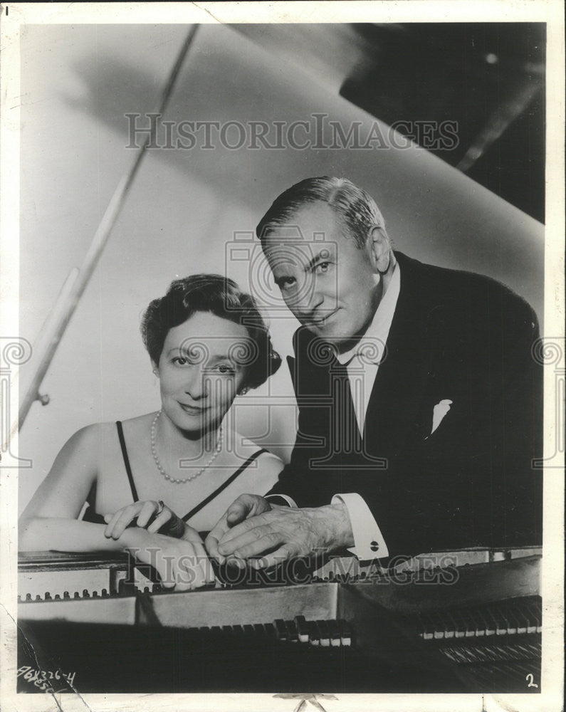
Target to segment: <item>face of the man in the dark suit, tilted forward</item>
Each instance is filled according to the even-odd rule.
[[[298,229],[297,229],[298,228]],[[362,335],[382,294],[371,241],[359,247],[342,216],[320,201],[268,235],[266,257],[288,308],[317,336],[347,350]]]

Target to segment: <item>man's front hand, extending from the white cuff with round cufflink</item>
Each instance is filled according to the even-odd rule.
[[[337,503],[309,509],[273,507],[251,516],[226,530],[218,552],[222,557],[252,559],[255,568],[268,568],[293,557],[353,545],[347,509]]]

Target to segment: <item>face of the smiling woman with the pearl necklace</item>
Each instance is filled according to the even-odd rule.
[[[241,389],[250,347],[246,327],[208,312],[169,329],[156,365],[164,414],[184,431],[218,426]]]

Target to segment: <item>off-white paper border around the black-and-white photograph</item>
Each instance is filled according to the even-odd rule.
[[[546,219],[545,219],[545,344],[561,349],[564,364],[564,9],[560,0],[405,0],[368,2],[248,2],[248,3],[16,3],[0,6],[1,22],[1,166],[0,166],[0,279],[2,348],[19,339],[19,72],[20,28],[33,24],[65,23],[263,23],[263,22],[471,22],[529,21],[547,23],[546,84]],[[23,335],[25,337],[25,335]],[[545,368],[545,459],[555,455],[560,403],[555,407],[555,369]],[[17,370],[11,374],[9,392],[2,393],[9,413],[18,412]],[[2,411],[4,417],[4,409]],[[558,415],[557,415],[558,413]],[[12,418],[0,423],[9,440],[9,456],[17,457],[18,436],[11,432]],[[5,712],[23,709],[71,711],[163,708],[189,711],[291,712],[298,699],[274,699],[271,693],[176,693],[81,696],[16,694],[17,632],[17,512],[18,468],[0,468],[0,702]],[[563,698],[563,551],[564,453],[558,453],[544,473],[542,595],[542,692],[529,694],[341,694],[321,698],[326,712],[378,709],[403,712],[503,712],[559,711]],[[80,692],[80,691],[79,691]],[[310,691],[314,692],[314,691]],[[325,691],[315,691],[325,693]]]

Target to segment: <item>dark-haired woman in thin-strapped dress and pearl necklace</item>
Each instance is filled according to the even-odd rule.
[[[20,550],[129,550],[187,589],[214,580],[198,532],[241,493],[270,490],[283,467],[223,424],[236,394],[281,359],[253,298],[217,275],[174,281],[142,336],[161,409],[75,433],[21,516]]]

